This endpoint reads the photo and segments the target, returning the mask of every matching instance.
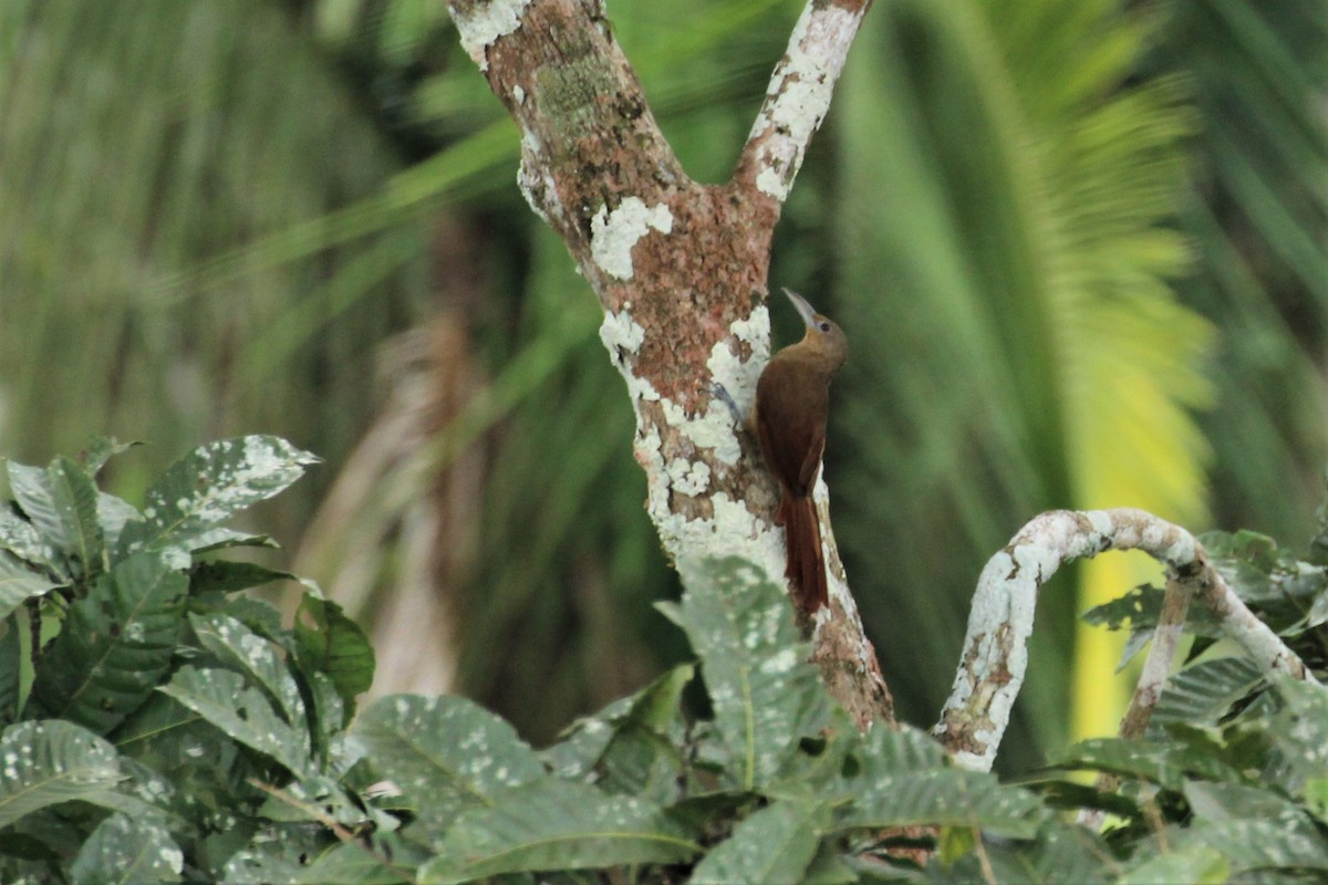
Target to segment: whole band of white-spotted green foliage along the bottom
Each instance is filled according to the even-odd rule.
[[[459,697],[392,695],[353,716],[373,671],[355,624],[313,589],[292,628],[235,593],[290,576],[214,559],[268,544],[227,520],[312,458],[266,437],[205,446],[153,486],[143,512],[97,492],[101,462],[9,464],[7,882],[1123,884],[1328,873],[1328,693],[1316,683],[1198,659],[1173,681],[1149,739],[1086,742],[1037,782],[1001,784],[955,767],[918,730],[859,732],[806,662],[784,592],[726,559],[660,606],[696,663],[535,751]],[[1317,610],[1317,565],[1263,537],[1210,541],[1252,605],[1283,606],[1270,617],[1292,640],[1321,625],[1283,610],[1288,598]],[[1151,600],[1137,590],[1093,617],[1143,630]],[[31,636],[42,637],[39,649]],[[696,682],[705,716],[684,701]],[[1102,795],[1061,774],[1080,770],[1123,787]],[[1110,809],[1117,823],[1081,828],[1066,817],[1080,808]],[[902,849],[932,858],[918,866]]]

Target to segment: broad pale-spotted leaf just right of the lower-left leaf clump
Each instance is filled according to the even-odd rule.
[[[465,698],[386,697],[360,714],[351,734],[434,843],[466,808],[544,776],[510,724]]]

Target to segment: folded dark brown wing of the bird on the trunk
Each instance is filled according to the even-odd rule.
[[[791,364],[770,362],[757,382],[756,430],[761,452],[797,498],[807,496],[821,464],[829,405],[826,385],[805,383],[805,375]]]

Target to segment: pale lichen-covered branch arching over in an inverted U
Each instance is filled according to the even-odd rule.
[[[1113,548],[1143,551],[1167,568],[1165,629],[1145,665],[1145,681],[1126,723],[1131,730],[1142,730],[1157,703],[1189,598],[1206,605],[1226,634],[1263,667],[1297,679],[1313,678],[1236,597],[1190,532],[1141,510],[1053,511],[1024,525],[987,561],[977,580],[963,658],[934,728],[961,764],[987,771],[996,758],[1028,669],[1028,638],[1042,584],[1062,564]]]

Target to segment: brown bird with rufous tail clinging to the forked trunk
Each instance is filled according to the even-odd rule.
[[[789,289],[784,293],[807,330],[802,341],[776,353],[761,372],[750,429],[784,491],[776,521],[784,524],[789,549],[785,575],[793,600],[801,610],[814,614],[830,594],[811,488],[826,448],[830,381],[849,357],[849,342],[839,326],[817,313],[806,299]]]

